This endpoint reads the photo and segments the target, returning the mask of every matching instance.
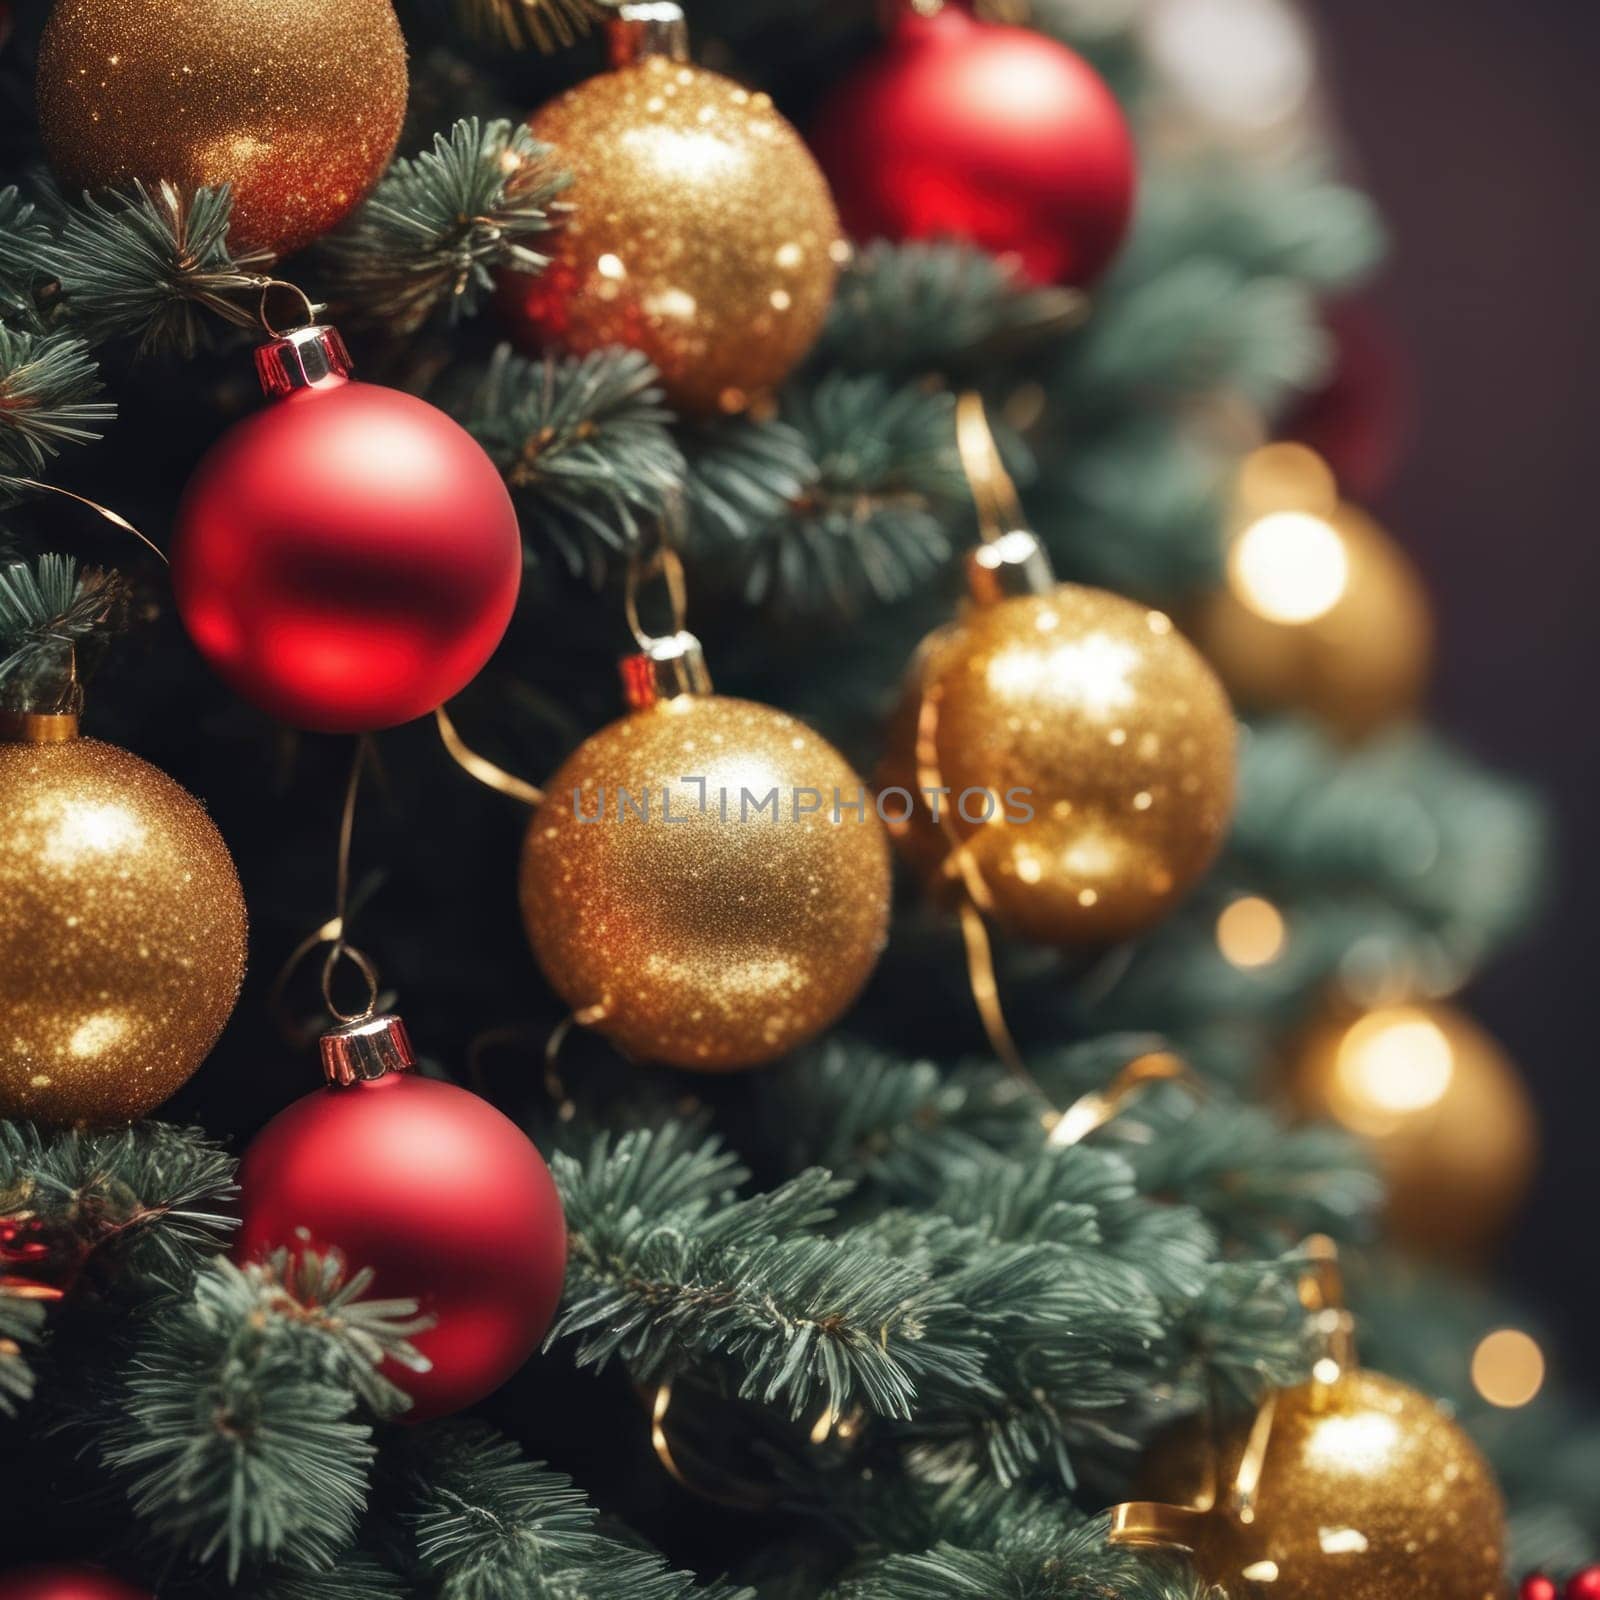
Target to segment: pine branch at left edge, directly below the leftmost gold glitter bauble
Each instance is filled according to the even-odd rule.
[[[197,1128],[0,1122],[0,1219],[34,1242],[26,1270],[43,1283],[94,1262],[123,1294],[181,1286],[227,1242],[234,1194],[232,1157]]]

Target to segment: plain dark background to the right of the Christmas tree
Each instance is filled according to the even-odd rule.
[[[1318,0],[1357,176],[1394,232],[1378,298],[1410,350],[1411,442],[1378,510],[1440,614],[1438,720],[1555,813],[1547,912],[1469,1002],[1544,1122],[1509,1280],[1600,1379],[1600,6]]]

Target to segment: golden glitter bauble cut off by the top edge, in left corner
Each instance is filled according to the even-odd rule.
[[[38,46],[62,189],[229,184],[235,254],[286,254],[352,211],[406,86],[389,0],[56,0]]]

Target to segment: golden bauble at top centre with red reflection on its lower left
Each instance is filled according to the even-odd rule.
[[[838,216],[765,94],[651,56],[530,118],[574,182],[536,277],[502,304],[538,342],[642,350],[674,405],[742,411],[811,349],[834,294]]]

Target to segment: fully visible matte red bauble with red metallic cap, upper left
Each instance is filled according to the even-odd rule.
[[[422,717],[501,642],[522,582],[494,462],[426,400],[352,382],[333,328],[256,352],[272,405],[184,493],[178,611],[240,696],[298,728]]]

